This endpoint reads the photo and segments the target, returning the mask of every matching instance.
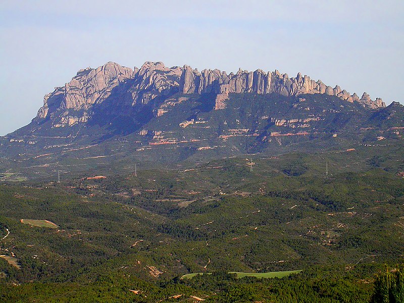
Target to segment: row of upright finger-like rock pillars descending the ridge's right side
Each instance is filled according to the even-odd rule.
[[[372,109],[385,107],[381,98],[371,100],[365,92],[362,98],[356,93],[350,95],[346,90],[342,90],[338,85],[334,88],[325,85],[321,80],[314,81],[309,76],[302,76],[300,73],[296,77],[289,78],[287,74],[279,71],[264,72],[260,69],[254,72],[238,70],[236,74],[221,72],[220,70],[203,70],[198,72],[185,65],[182,69],[180,80],[180,91],[182,93],[203,93],[215,92],[215,109],[224,108],[224,100],[228,98],[228,93],[255,92],[258,94],[276,92],[285,96],[297,96],[300,94],[325,93],[335,95],[348,102],[359,102],[364,107]]]

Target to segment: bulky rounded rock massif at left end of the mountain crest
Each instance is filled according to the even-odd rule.
[[[141,106],[157,96],[177,92],[181,73],[181,68],[167,68],[161,62],[145,62],[140,69],[135,67],[134,70],[112,62],[96,69],[80,70],[65,86],[56,87],[44,96],[43,107],[34,120],[55,116],[54,127],[85,123],[91,107],[103,103],[111,94],[117,95],[114,99],[121,98],[124,105]],[[126,84],[122,93],[120,84],[123,82]],[[115,88],[117,92],[113,91]],[[74,111],[74,116],[67,118],[65,111],[69,110]]]

